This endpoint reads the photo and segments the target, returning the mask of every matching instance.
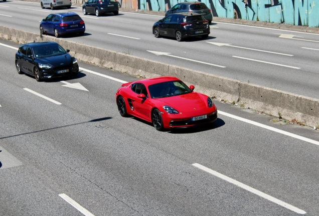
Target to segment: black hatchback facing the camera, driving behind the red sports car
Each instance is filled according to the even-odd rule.
[[[27,73],[41,79],[77,75],[79,65],[61,45],[56,42],[31,42],[22,44],[16,52],[16,68],[19,74]]]

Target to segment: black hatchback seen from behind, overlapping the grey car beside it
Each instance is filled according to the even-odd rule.
[[[207,38],[210,34],[208,20],[198,13],[173,13],[154,23],[155,37],[176,37],[178,41],[192,36]]]

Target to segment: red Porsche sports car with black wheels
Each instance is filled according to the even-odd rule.
[[[153,123],[157,130],[213,122],[217,108],[212,99],[194,92],[174,76],[123,83],[116,92],[118,111]]]

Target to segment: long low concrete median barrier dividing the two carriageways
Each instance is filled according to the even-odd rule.
[[[32,33],[0,26],[0,37],[18,43],[35,41],[56,41],[78,60],[111,68],[136,76],[153,77],[172,75],[187,84],[194,84],[195,90],[217,99],[235,101],[246,107],[285,119],[294,119],[309,126],[319,125],[319,100],[263,87],[239,80],[225,78],[201,71],[136,57],[99,47],[88,46],[63,38]]]

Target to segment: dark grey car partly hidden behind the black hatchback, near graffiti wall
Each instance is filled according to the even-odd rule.
[[[186,1],[175,4],[171,9],[165,12],[165,15],[180,12],[196,12],[202,14],[208,20],[209,23],[212,23],[213,20],[213,14],[211,9],[209,9],[205,3],[200,1]]]

